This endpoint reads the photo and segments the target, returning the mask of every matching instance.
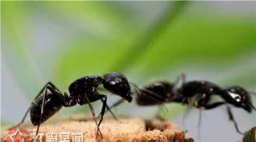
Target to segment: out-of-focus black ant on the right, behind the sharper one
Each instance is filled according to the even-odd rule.
[[[155,81],[151,84],[140,88],[144,96],[138,95],[136,103],[140,106],[156,105],[160,103],[181,103],[184,105],[191,104],[198,109],[213,109],[221,105],[231,104],[235,107],[243,108],[248,113],[252,109],[256,110],[252,105],[251,96],[240,86],[230,86],[222,88],[208,81],[193,80],[185,82],[185,75],[182,74],[178,77],[175,83],[166,81]],[[223,98],[223,102],[210,103],[211,96],[217,95]],[[158,102],[153,99],[148,99],[148,96],[154,97]],[[110,108],[119,105],[122,100],[113,104]],[[231,108],[227,106],[227,114],[229,119],[233,121],[236,131],[241,133],[234,120]]]

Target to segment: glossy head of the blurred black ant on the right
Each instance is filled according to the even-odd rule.
[[[254,109],[252,103],[251,103],[251,97],[246,90],[240,86],[231,86],[227,87],[226,93],[229,96],[229,102],[230,104],[241,107],[251,113],[252,108]]]

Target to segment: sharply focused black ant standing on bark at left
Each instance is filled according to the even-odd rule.
[[[105,109],[107,108],[113,117],[115,119],[117,118],[107,105],[107,96],[97,92],[97,88],[101,84],[103,84],[103,87],[108,90],[108,92],[122,97],[129,103],[131,102],[132,97],[130,96],[131,93],[129,82],[124,75],[119,73],[108,73],[103,76],[81,77],[70,84],[69,96],[67,93],[62,94],[53,83],[48,82],[35,97],[34,101],[31,103],[31,106],[29,109],[27,109],[22,121],[14,127],[20,126],[30,111],[32,124],[37,126],[35,134],[36,136],[38,134],[40,124],[44,123],[44,121],[48,120],[51,116],[57,113],[62,106],[72,107],[77,104],[89,104],[93,119],[97,125],[97,136],[99,135],[102,137],[99,127],[103,119],[103,115],[105,114]],[[95,102],[97,100],[101,100],[103,103],[100,113],[101,119],[98,124],[94,109],[91,105],[91,102]]]

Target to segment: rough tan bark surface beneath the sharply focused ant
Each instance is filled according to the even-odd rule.
[[[25,124],[25,128],[32,135],[36,127],[31,124]],[[159,119],[145,120],[142,118],[119,118],[105,119],[100,126],[102,139],[96,138],[96,124],[91,119],[84,117],[75,118],[55,118],[46,121],[40,127],[40,133],[83,133],[84,142],[87,141],[115,141],[115,142],[193,142],[192,138],[185,138],[185,133],[177,129],[177,126],[168,121]],[[1,141],[5,141],[7,131],[2,131]],[[71,138],[72,139],[72,138]],[[43,139],[45,140],[45,138]],[[58,139],[59,140],[59,139]],[[72,141],[72,140],[71,140]]]

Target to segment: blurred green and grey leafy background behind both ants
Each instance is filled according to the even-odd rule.
[[[255,92],[253,1],[1,1],[1,14],[2,125],[20,120],[48,80],[67,92],[74,79],[107,72],[123,73],[139,86],[156,79],[173,82],[185,73],[187,80]],[[109,104],[117,99],[110,96]],[[94,104],[99,110],[101,104]],[[166,106],[165,118],[184,113],[180,105]],[[141,115],[135,104],[125,103],[115,113],[151,117],[156,112],[155,107],[141,109],[147,111]],[[77,106],[58,115],[86,111],[88,106]],[[244,129],[255,125],[254,115],[248,116]],[[230,125],[236,135],[233,129]]]

